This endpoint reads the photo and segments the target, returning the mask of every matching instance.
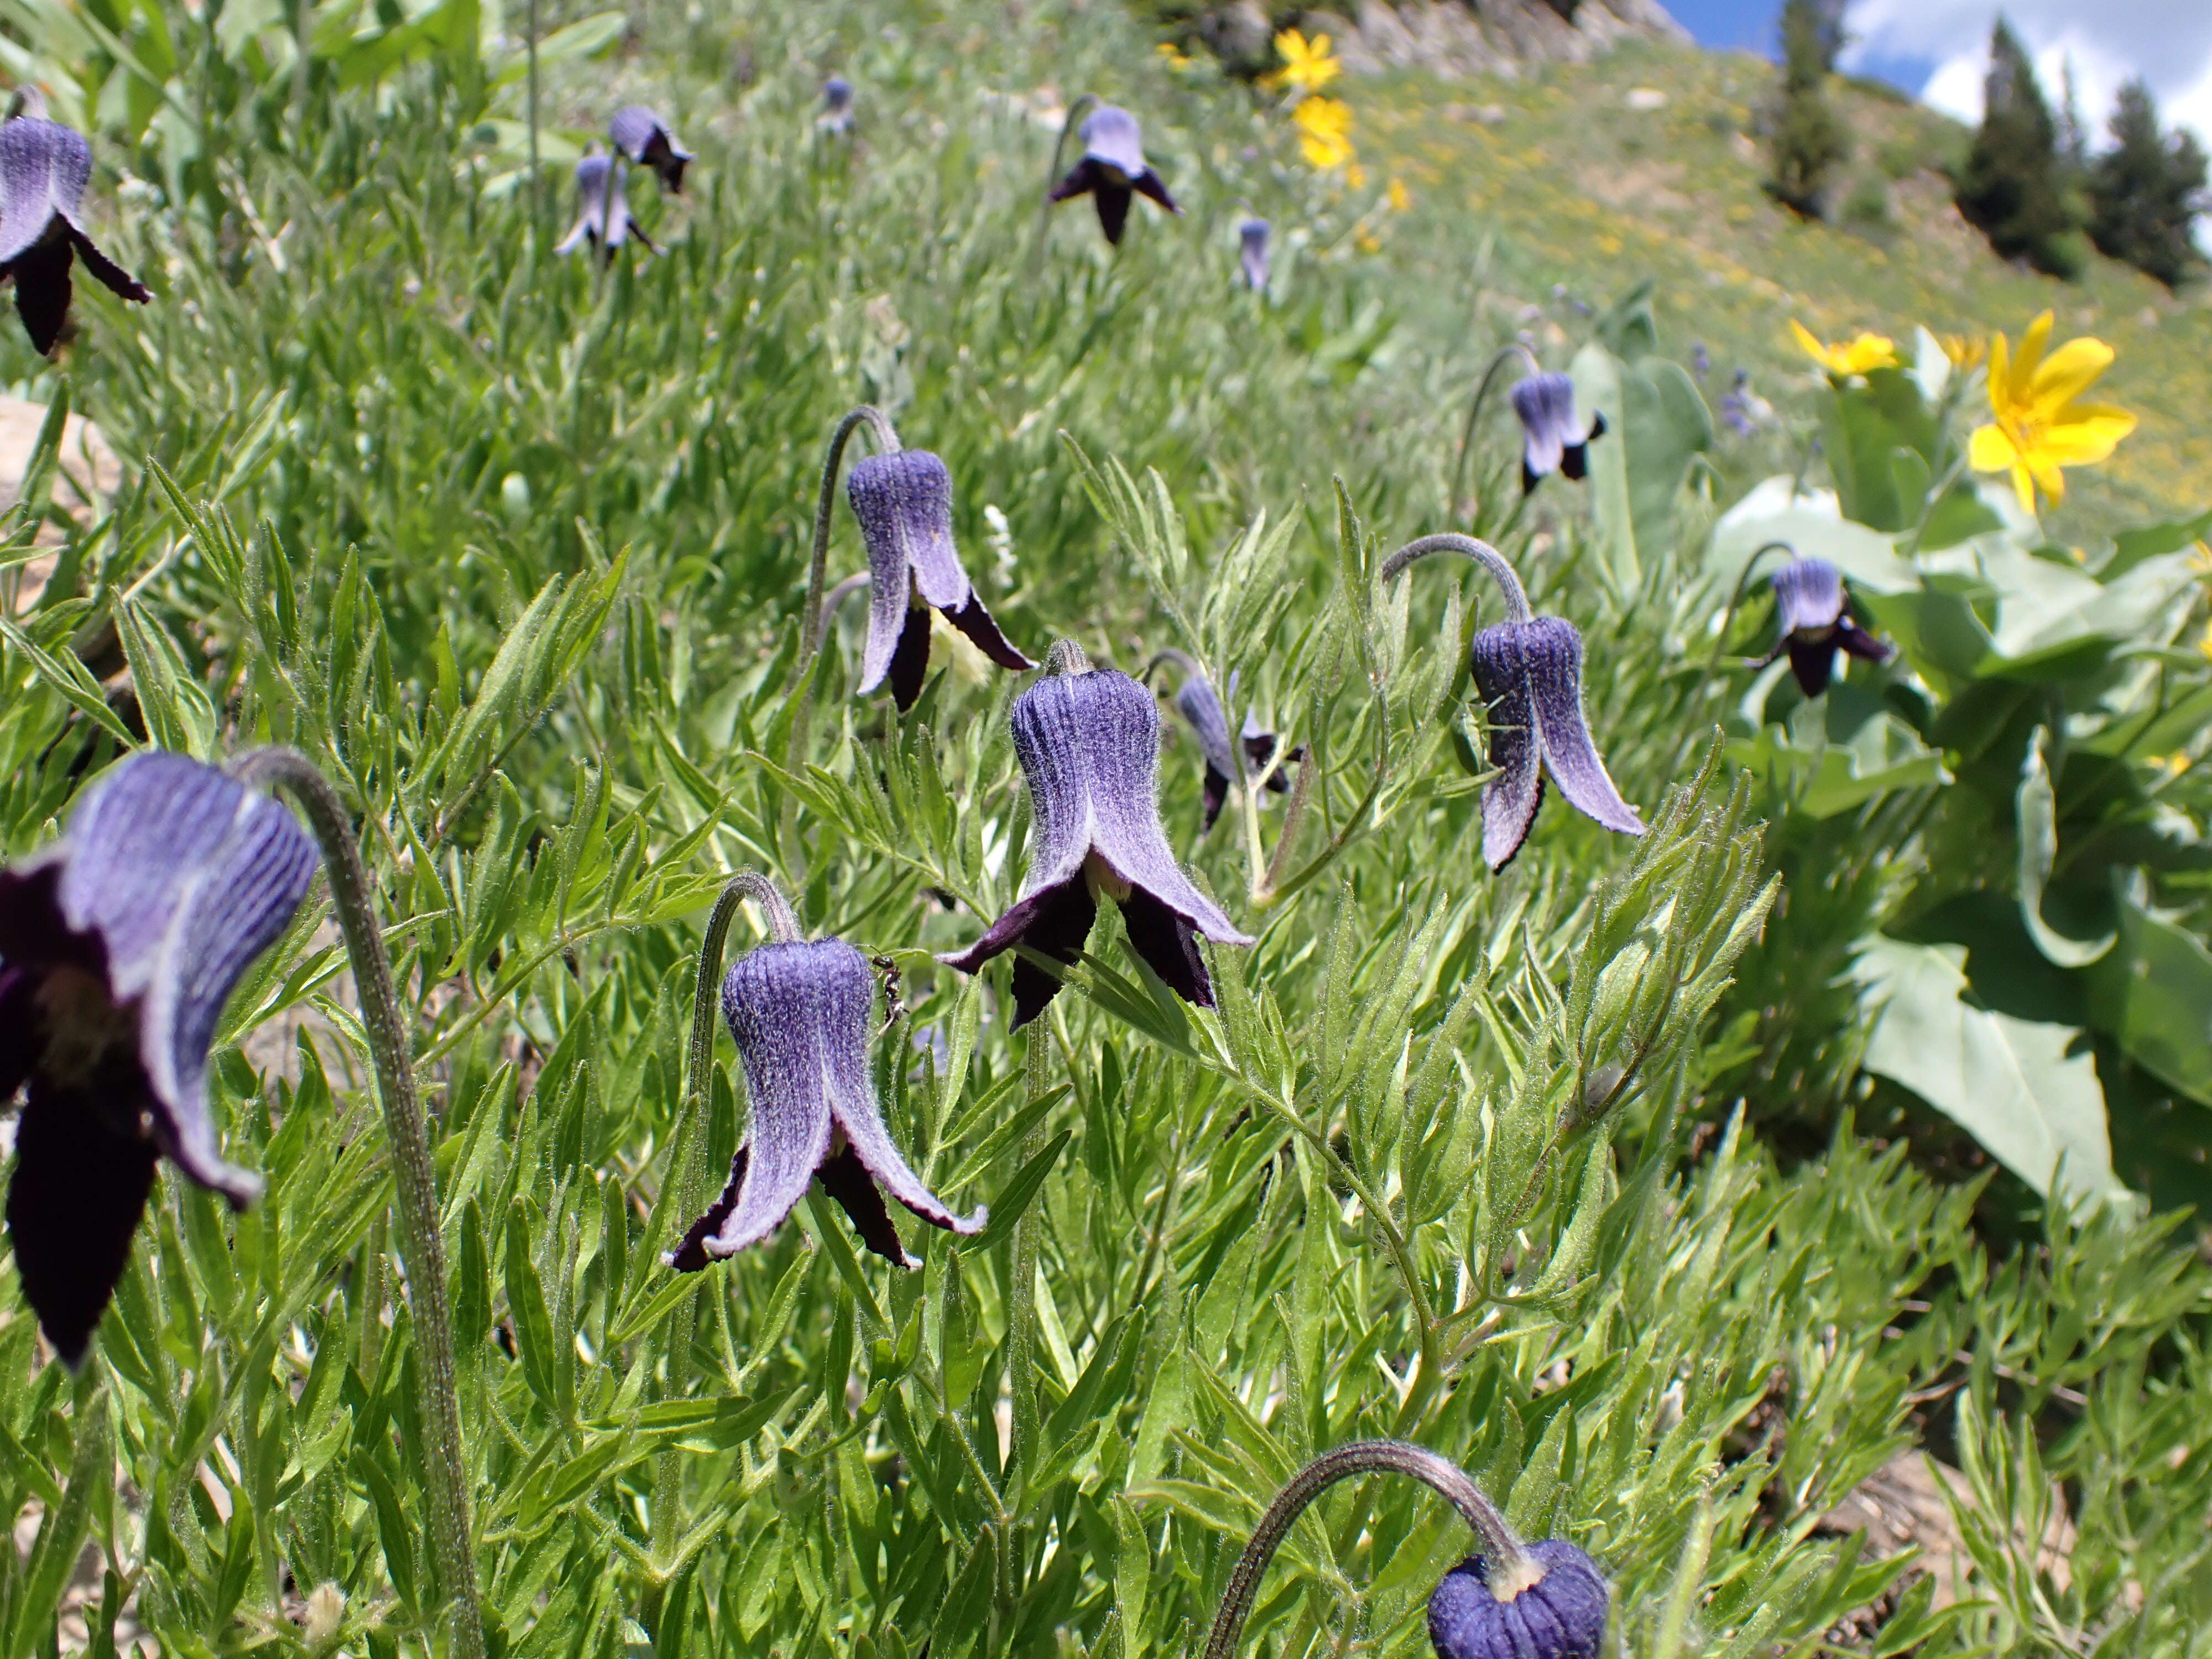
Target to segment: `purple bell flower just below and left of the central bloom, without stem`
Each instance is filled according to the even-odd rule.
[[[883,1126],[867,1066],[874,1002],[867,958],[838,938],[763,945],[730,967],[721,1018],[745,1064],[752,1124],[721,1197],[668,1252],[670,1267],[699,1272],[757,1245],[814,1179],[860,1243],[900,1267],[922,1263],[898,1241],[885,1192],[933,1228],[982,1232],[984,1210],[945,1208]]]

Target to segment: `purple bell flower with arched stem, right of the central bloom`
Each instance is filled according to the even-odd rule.
[[[1506,619],[1480,628],[1473,639],[1475,690],[1489,710],[1489,761],[1498,768],[1498,776],[1482,785],[1482,860],[1491,869],[1513,863],[1544,801],[1546,774],[1584,816],[1624,836],[1641,836],[1644,821],[1621,799],[1590,741],[1575,624],[1533,615],[1513,566],[1471,535],[1409,542],[1383,562],[1383,580],[1431,553],[1473,560],[1506,591]]]

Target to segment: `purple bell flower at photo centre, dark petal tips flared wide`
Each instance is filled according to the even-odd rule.
[[[1055,648],[1055,657],[1068,650]],[[1075,653],[1079,664],[1079,653]],[[940,956],[962,973],[1015,945],[1073,964],[1091,938],[1099,896],[1121,907],[1130,949],[1183,1002],[1214,1006],[1197,936],[1252,945],[1201,894],[1159,823],[1159,708],[1113,668],[1046,675],[1013,703],[1013,754],[1029,781],[1035,843],[1022,898],[967,951]],[[1013,964],[1013,1024],[1044,1013],[1060,978]]]

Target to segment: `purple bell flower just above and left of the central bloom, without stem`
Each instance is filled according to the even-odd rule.
[[[927,449],[869,456],[845,482],[867,544],[867,650],[860,692],[889,677],[900,712],[914,708],[929,670],[929,608],[975,641],[984,657],[1015,672],[1035,668],[1015,650],[975,597],[953,546],[953,478]]]

